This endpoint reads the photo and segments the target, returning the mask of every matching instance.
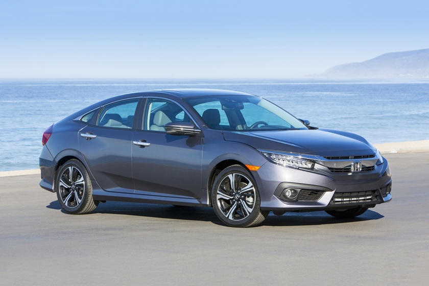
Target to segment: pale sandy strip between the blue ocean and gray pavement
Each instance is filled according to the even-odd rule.
[[[381,153],[428,152],[429,140],[374,144]],[[0,172],[0,177],[40,174],[39,169]]]

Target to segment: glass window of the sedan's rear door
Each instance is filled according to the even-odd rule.
[[[105,106],[99,115],[97,126],[131,129],[137,103],[138,99],[133,99]]]

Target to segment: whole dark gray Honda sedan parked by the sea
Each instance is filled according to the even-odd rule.
[[[105,201],[201,206],[249,227],[270,211],[353,218],[392,198],[388,162],[366,139],[243,92],[125,94],[53,124],[42,145],[40,186],[66,213]]]

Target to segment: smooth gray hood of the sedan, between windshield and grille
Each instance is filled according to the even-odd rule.
[[[223,134],[226,141],[241,142],[258,150],[321,156],[368,155],[376,151],[362,136],[330,129],[224,131]]]

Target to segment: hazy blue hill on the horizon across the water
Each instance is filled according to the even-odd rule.
[[[387,53],[371,60],[327,69],[325,78],[429,78],[429,49]]]

